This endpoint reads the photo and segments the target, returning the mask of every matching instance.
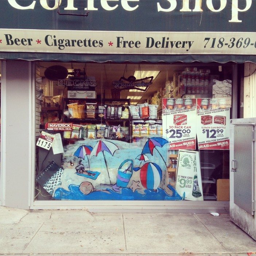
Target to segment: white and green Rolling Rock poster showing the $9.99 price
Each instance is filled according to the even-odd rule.
[[[198,151],[179,150],[175,189],[185,200],[203,201]]]

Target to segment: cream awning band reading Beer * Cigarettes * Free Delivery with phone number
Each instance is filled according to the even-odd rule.
[[[0,51],[87,54],[256,54],[251,32],[0,29]]]

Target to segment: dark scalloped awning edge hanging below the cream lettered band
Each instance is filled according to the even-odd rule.
[[[175,54],[175,55],[144,55],[144,54],[65,54],[65,53],[10,53],[1,52],[0,59],[26,61],[59,61],[59,62],[113,62],[113,63],[174,63],[174,62],[218,62],[218,63],[256,63],[256,55],[223,55],[223,54]]]

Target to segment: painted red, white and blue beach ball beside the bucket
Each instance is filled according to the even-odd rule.
[[[146,163],[140,169],[140,181],[146,189],[157,189],[162,179],[162,170],[156,163]]]

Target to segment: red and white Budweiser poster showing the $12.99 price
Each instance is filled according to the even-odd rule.
[[[231,98],[197,99],[197,141],[200,150],[229,150]]]

